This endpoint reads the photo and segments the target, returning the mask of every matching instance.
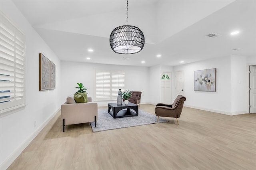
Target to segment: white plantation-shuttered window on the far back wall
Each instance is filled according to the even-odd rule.
[[[118,91],[125,89],[125,74],[112,71],[96,71],[95,100],[116,100]]]

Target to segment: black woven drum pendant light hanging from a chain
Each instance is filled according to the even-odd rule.
[[[128,0],[126,26],[116,27],[110,34],[110,47],[115,53],[134,54],[142,50],[145,43],[143,32],[136,26],[128,26]]]

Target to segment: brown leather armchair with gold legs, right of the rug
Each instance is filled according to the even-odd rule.
[[[186,101],[186,97],[178,95],[172,105],[166,105],[164,103],[156,104],[155,113],[158,116],[157,122],[160,116],[175,117],[179,125],[178,118],[180,118],[184,101]]]

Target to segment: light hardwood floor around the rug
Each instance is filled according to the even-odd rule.
[[[140,106],[154,114],[154,105]],[[59,112],[8,170],[256,169],[256,114],[184,107],[179,126],[164,119],[169,122],[95,133],[89,123],[68,125],[62,132]]]

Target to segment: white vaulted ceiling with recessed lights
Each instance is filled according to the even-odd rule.
[[[149,67],[233,54],[256,57],[256,0],[129,0],[128,25],[140,28],[146,41],[130,55],[114,53],[109,44],[112,30],[126,25],[126,0],[13,2],[63,61]],[[240,33],[231,36],[235,30]],[[210,33],[222,36],[206,37]]]

